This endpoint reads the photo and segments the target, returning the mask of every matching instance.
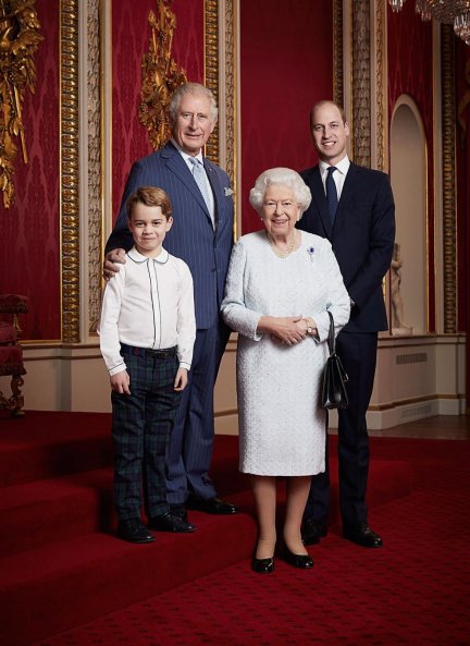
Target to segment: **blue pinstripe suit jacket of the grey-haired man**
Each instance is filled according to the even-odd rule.
[[[199,329],[207,329],[218,320],[233,245],[234,214],[228,175],[206,158],[203,163],[214,196],[215,231],[185,160],[173,144],[168,143],[134,163],[116,223],[106,245],[106,253],[120,247],[129,249],[133,237],[127,229],[127,198],[140,186],[163,188],[173,207],[173,227],[163,246],[189,266]]]

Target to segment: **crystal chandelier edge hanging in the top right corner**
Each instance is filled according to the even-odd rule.
[[[400,11],[405,0],[388,0],[392,11]],[[416,12],[423,21],[435,19],[454,25],[454,32],[470,45],[470,0],[416,0]]]

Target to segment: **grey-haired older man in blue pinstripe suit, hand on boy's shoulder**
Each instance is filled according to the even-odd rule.
[[[209,477],[213,447],[213,387],[230,331],[219,316],[233,244],[233,198],[227,174],[202,156],[218,109],[203,85],[187,83],[170,106],[172,139],[134,163],[121,210],[107,246],[104,275],[119,271],[132,246],[125,204],[139,186],[160,186],[173,206],[165,248],[183,258],[193,275],[197,336],[188,387],[183,393],[168,451],[168,500],[173,515],[186,509],[232,514]]]

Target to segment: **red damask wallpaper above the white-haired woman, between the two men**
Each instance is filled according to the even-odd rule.
[[[268,168],[317,163],[309,113],[333,95],[333,2],[240,0],[242,233],[261,228],[248,203]]]

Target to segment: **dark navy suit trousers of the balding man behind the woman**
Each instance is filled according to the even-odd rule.
[[[349,377],[346,383],[349,405],[338,411],[339,509],[343,523],[367,522],[366,490],[369,475],[369,435],[366,413],[372,395],[376,364],[376,332],[339,332],[336,351]],[[331,489],[326,472],[312,477],[306,519],[325,521]]]

